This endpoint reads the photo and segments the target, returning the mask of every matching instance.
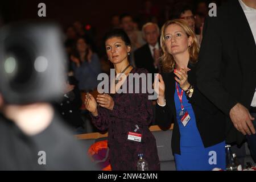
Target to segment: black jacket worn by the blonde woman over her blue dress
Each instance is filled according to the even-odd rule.
[[[188,64],[188,68],[191,69],[191,71],[188,72],[188,82],[194,86],[194,92],[193,96],[191,98],[187,97],[187,99],[195,113],[197,129],[203,140],[204,147],[213,146],[225,140],[225,115],[197,89],[196,64]],[[175,75],[173,72],[170,72],[162,73],[162,76],[166,86],[166,106],[162,107],[156,104],[156,121],[158,125],[163,128],[168,128],[171,123],[174,123],[172,150],[173,153],[180,154],[180,132],[174,102],[176,89]]]

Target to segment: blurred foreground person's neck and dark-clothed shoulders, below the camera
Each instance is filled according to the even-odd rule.
[[[94,170],[48,103],[4,104],[0,95],[0,170]],[[40,151],[46,164],[39,164]]]

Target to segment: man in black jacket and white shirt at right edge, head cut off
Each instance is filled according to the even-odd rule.
[[[226,115],[226,142],[256,156],[256,2],[228,1],[204,23],[197,68],[201,92]],[[224,121],[225,122],[225,121]],[[216,131],[218,132],[218,131]]]

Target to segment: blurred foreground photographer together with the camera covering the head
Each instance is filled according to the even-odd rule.
[[[44,23],[22,22],[0,30],[2,170],[94,169],[86,147],[50,104],[64,92],[60,36],[56,25]]]

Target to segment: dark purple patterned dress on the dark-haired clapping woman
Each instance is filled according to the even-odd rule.
[[[133,68],[130,73],[148,72],[146,69]],[[127,77],[127,90],[129,90],[129,77]],[[159,170],[155,137],[148,129],[152,120],[152,101],[148,100],[148,93],[116,93],[111,96],[114,100],[113,110],[98,106],[98,116],[92,116],[92,122],[99,130],[108,130],[112,169],[137,170],[138,154],[142,153],[143,158],[148,162],[148,168],[151,171]],[[137,133],[142,134],[141,142],[127,140],[128,133],[134,132],[137,128],[135,125],[139,126]]]

